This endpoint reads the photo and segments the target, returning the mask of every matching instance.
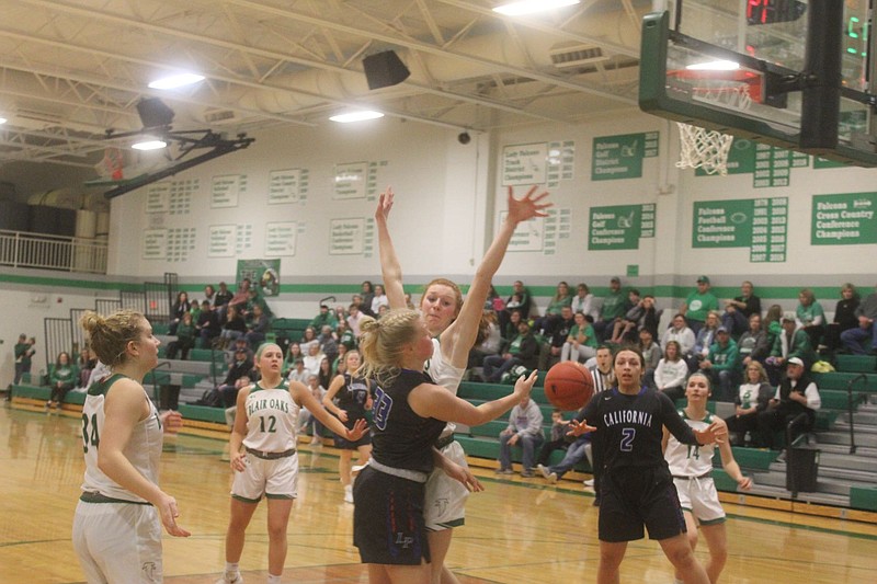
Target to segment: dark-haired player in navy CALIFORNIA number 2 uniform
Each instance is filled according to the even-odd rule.
[[[708,584],[685,537],[676,489],[661,451],[663,426],[681,443],[701,445],[727,435],[724,424],[692,431],[667,396],[642,386],[642,354],[623,348],[615,354],[617,386],[596,393],[576,420],[570,434],[596,432],[603,469],[600,484],[600,564],[597,584],[617,584],[627,542],[656,539],[688,584]],[[593,421],[594,425],[589,425]]]

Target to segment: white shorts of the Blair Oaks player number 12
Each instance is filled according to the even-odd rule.
[[[247,453],[247,469],[235,472],[231,496],[244,503],[267,499],[298,497],[298,453],[265,460]]]

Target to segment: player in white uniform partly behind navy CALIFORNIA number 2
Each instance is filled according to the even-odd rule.
[[[720,417],[714,416],[706,409],[706,402],[710,394],[710,382],[706,375],[698,371],[688,378],[685,388],[688,404],[679,413],[693,430],[703,431],[713,423],[721,422],[724,424]],[[706,573],[709,582],[715,584],[728,559],[725,511],[719,503],[719,495],[711,477],[716,445],[688,446],[682,444],[664,427],[663,446],[664,458],[673,474],[673,483],[676,485],[679,501],[685,516],[688,541],[694,549],[697,545],[699,526],[709,548],[709,561],[705,566]],[[740,489],[748,491],[752,486],[752,479],[744,477],[740,471],[740,467],[733,459],[730,444],[727,440],[722,442],[718,448],[725,471],[737,481]],[[676,574],[676,582],[682,582],[679,574]]]

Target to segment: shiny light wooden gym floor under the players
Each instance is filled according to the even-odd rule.
[[[82,479],[78,416],[0,408],[0,582],[80,583],[70,542]],[[187,539],[164,538],[164,581],[213,584],[224,566],[230,471],[225,442],[181,435],[166,442],[161,483],[176,497]],[[284,580],[364,583],[351,543],[353,506],[343,503],[338,457],[329,447],[299,454],[299,499],[289,520]],[[474,495],[448,563],[463,584],[590,583],[597,563],[593,494],[580,482],[497,479],[477,469],[487,491]],[[877,570],[877,526],[726,504],[730,558],[725,583],[868,582]],[[241,571],[266,579],[264,505],[248,530]],[[704,557],[705,546],[698,551]],[[870,575],[868,575],[870,574]],[[631,542],[623,582],[671,583],[656,542]]]

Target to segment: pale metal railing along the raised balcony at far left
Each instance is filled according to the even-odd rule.
[[[106,241],[0,230],[0,265],[106,273]]]

